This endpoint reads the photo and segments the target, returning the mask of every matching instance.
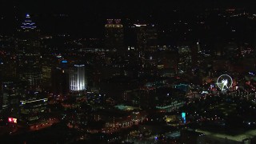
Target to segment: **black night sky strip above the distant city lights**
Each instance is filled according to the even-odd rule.
[[[252,6],[256,2],[249,0],[150,0],[150,1],[93,1],[93,0],[2,0],[1,6],[4,11],[11,11],[12,6],[18,6],[22,12],[31,13],[83,13],[83,12],[117,12],[156,10],[156,9],[194,9],[200,7],[222,7],[222,6]]]

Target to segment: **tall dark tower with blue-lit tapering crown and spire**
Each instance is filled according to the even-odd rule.
[[[26,14],[25,22],[18,29],[18,73],[19,77],[28,82],[30,88],[36,88],[42,81],[40,66],[39,30]]]

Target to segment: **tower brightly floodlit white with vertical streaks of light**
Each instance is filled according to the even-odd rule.
[[[74,65],[70,68],[70,90],[86,90],[86,68],[85,65]]]

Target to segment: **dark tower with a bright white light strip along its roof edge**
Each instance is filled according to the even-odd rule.
[[[158,48],[158,30],[156,26],[134,24],[137,33],[139,51],[155,51]]]

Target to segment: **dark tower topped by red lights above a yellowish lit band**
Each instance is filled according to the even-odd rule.
[[[105,25],[105,46],[108,50],[124,52],[123,26],[121,19],[107,19]]]

